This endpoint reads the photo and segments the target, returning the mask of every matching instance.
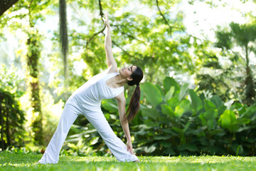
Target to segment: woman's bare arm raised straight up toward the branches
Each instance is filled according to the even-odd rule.
[[[107,18],[107,12],[105,13],[105,19],[103,18],[104,24],[107,27],[107,33],[105,35],[105,52],[107,57],[107,66],[111,71],[117,72],[117,63],[114,61],[112,53],[112,41],[110,34],[110,21]]]

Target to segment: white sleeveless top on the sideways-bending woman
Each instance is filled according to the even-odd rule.
[[[106,81],[117,75],[119,73],[99,73],[75,90],[73,96],[87,112],[101,111],[102,99],[115,98],[124,91],[124,86],[119,88],[107,86]]]

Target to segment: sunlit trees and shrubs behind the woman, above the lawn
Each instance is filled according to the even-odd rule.
[[[68,97],[107,68],[105,11],[117,65],[144,71],[137,155],[255,155],[253,0],[16,1],[0,16],[1,150],[41,154]],[[116,101],[102,111],[125,141]],[[60,154],[111,152],[81,116]]]

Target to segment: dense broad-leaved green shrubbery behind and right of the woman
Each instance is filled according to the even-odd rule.
[[[171,86],[167,85],[167,81]],[[159,87],[157,85],[144,83],[142,86],[146,101],[141,104],[137,117],[130,123],[134,151],[138,155],[255,154],[255,133],[252,131],[255,130],[256,105],[247,107],[234,103],[227,110],[217,95],[198,95],[188,89],[187,84],[179,86],[170,78],[166,78],[164,83],[165,92],[167,90],[164,94],[156,88]],[[171,95],[167,95],[170,91],[173,91]],[[117,103],[105,100],[102,108],[112,128],[124,140],[116,115]],[[85,133],[90,132],[88,126]],[[82,135],[85,134],[80,133]],[[83,143],[92,142],[94,138],[93,134],[87,135]],[[102,140],[97,138],[95,142],[97,148],[91,144],[87,149],[92,147],[92,151],[97,149],[106,152],[106,148],[99,148],[103,145]]]

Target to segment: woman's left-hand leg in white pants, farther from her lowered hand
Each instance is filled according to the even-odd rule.
[[[73,125],[76,118],[78,118],[79,113],[80,110],[73,100],[68,100],[63,109],[63,113],[60,116],[57,130],[55,131],[53,138],[50,140],[43,157],[38,161],[39,163],[58,163],[63,142],[68,135],[71,125]]]

